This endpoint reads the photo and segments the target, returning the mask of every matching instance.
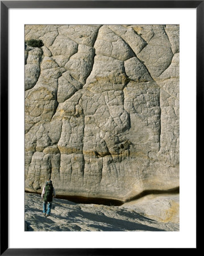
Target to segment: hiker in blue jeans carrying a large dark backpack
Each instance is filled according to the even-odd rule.
[[[47,217],[51,213],[52,208],[52,196],[55,197],[55,188],[52,185],[52,180],[46,181],[46,184],[41,193],[41,198],[43,199],[43,214]],[[47,209],[48,204],[48,209]],[[47,209],[47,212],[46,212]]]

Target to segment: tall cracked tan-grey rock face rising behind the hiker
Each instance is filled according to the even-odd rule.
[[[25,187],[126,201],[179,186],[179,26],[27,25]]]

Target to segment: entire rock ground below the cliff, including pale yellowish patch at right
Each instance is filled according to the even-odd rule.
[[[177,203],[178,195],[150,196],[144,204],[138,200],[138,204],[132,201],[119,207],[53,199],[51,216],[45,217],[40,195],[25,193],[25,230],[178,231]],[[164,220],[165,214],[168,219]]]

